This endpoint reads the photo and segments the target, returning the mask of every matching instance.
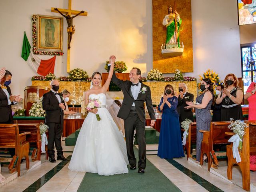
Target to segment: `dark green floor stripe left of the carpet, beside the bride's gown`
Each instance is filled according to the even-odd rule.
[[[71,156],[67,157],[68,161],[62,161],[58,165],[56,165],[52,170],[47,172],[45,175],[43,175],[41,178],[36,180],[33,184],[28,186],[23,192],[35,192],[38,189],[40,189],[46,182],[48,182],[56,173],[58,173],[68,162],[70,162]]]

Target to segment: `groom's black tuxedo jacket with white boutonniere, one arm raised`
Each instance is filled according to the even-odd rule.
[[[134,100],[131,92],[132,82],[130,81],[122,81],[116,77],[116,74],[113,73],[112,82],[116,84],[118,87],[122,89],[124,94],[124,100],[122,102],[121,108],[117,114],[117,116],[121,119],[126,119],[128,114],[130,113],[133,102],[135,103],[137,114],[142,122],[146,122],[145,110],[144,110],[144,102],[146,101],[146,106],[148,108],[148,113],[150,115],[151,120],[156,120],[152,100],[151,100],[151,92],[149,86],[141,83],[140,90],[143,87],[146,87],[145,93],[140,91],[138,94],[138,98]]]

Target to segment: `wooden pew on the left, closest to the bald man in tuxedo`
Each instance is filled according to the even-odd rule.
[[[41,136],[38,123],[30,123],[30,124],[18,124],[20,133],[31,132],[31,134],[27,135],[26,140],[29,142],[30,147],[34,146],[34,150],[32,152],[32,161],[41,160]]]

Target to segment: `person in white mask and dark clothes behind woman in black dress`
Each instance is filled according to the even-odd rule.
[[[224,89],[224,85],[218,84],[216,87],[216,96],[212,101],[212,121],[221,121],[221,104],[216,104],[216,99],[220,92]]]

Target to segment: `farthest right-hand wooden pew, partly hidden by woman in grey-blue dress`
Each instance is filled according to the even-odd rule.
[[[186,151],[187,151],[187,160],[189,157],[191,157],[190,150],[191,145],[196,144],[196,123],[191,123],[188,129],[188,138],[186,140]]]

